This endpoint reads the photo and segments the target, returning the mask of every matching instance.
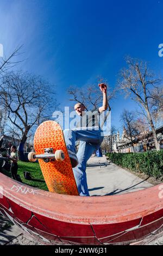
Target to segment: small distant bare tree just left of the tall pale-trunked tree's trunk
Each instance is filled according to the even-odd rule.
[[[133,152],[135,153],[134,150],[134,143],[139,136],[139,131],[135,125],[136,119],[135,119],[135,113],[134,112],[129,112],[126,109],[124,109],[122,115],[121,115],[121,121],[123,123],[123,127],[126,130],[125,133],[125,138],[128,139],[128,141],[131,143],[133,147]]]

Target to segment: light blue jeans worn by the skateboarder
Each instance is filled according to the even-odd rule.
[[[77,153],[78,166],[73,168],[74,178],[78,187],[80,196],[90,196],[86,181],[86,162],[91,155],[95,153],[103,142],[102,130],[64,130],[65,142],[67,149],[76,153],[76,141],[80,141]]]

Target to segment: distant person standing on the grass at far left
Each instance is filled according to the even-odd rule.
[[[11,147],[11,154],[7,155],[9,157],[9,159],[11,160],[11,174],[12,174],[12,178],[14,180],[17,180],[17,161],[18,161],[18,155],[17,155],[17,150],[16,150],[16,146],[12,145]]]

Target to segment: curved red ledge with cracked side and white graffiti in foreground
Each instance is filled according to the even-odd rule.
[[[2,214],[47,244],[126,245],[163,230],[163,184],[78,197],[38,190],[0,173],[0,186]]]

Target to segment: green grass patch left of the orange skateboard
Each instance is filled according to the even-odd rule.
[[[30,174],[32,175],[32,180],[26,180],[24,178],[23,172],[30,172]],[[11,173],[7,172],[7,170],[3,169],[3,173],[11,178]],[[43,175],[42,175],[39,163],[18,161],[17,174],[20,175],[24,184],[40,188],[40,190],[48,191],[46,182],[43,179]]]

